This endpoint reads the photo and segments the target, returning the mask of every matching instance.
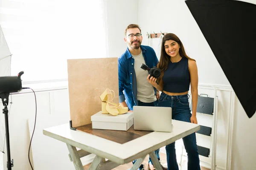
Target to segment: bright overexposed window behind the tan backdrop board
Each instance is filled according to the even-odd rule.
[[[24,71],[23,81],[67,79],[67,59],[106,57],[103,9],[104,0],[1,0],[11,74]]]

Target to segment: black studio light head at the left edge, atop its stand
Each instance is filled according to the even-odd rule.
[[[20,71],[17,76],[0,77],[0,98],[2,98],[3,103],[6,102],[8,105],[9,94],[22,90],[22,80],[20,78],[22,74],[24,72]],[[6,100],[4,101],[4,99]]]

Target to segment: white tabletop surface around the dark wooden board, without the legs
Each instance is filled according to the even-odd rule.
[[[125,164],[171,144],[200,129],[200,125],[172,120],[172,132],[151,132],[120,144],[90,133],[70,130],[70,125],[58,125],[43,130],[44,135],[94,153],[118,164]],[[136,130],[137,131],[137,130]],[[116,136],[119,133],[116,130]]]

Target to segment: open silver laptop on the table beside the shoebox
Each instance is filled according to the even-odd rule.
[[[172,132],[172,108],[134,106],[134,130]]]

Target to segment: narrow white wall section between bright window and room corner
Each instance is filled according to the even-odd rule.
[[[125,29],[138,24],[138,0],[107,0],[108,56],[121,56],[127,45]]]

